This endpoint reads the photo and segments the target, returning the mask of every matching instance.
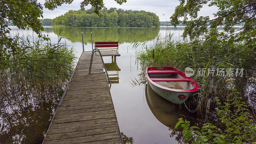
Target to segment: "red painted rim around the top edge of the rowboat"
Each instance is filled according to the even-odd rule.
[[[158,68],[158,69],[157,69]],[[161,70],[161,68],[163,68],[163,70]],[[164,79],[164,78],[157,78],[154,79],[150,79],[148,74],[152,74],[153,72],[151,71],[163,71],[165,72],[166,70],[172,70],[172,71],[175,71],[176,73],[178,73],[180,76],[182,76],[184,78],[184,81],[189,81],[192,85],[193,85],[193,89],[171,89],[171,88],[167,88],[167,87],[164,87],[162,85],[159,85],[159,84],[156,84],[154,81],[159,81],[159,79],[163,79],[163,80],[167,80],[167,79]],[[170,71],[170,72],[172,72]],[[161,88],[161,89],[165,89],[165,90],[168,90],[168,91],[173,91],[173,92],[196,92],[200,87],[199,85],[196,83],[196,81],[194,81],[190,76],[186,76],[185,73],[183,73],[182,71],[180,71],[179,69],[177,68],[174,68],[174,67],[147,67],[146,68],[146,77],[148,79],[148,81],[151,83],[151,84],[154,84],[155,86]],[[181,79],[183,79],[181,78]],[[171,78],[170,78],[171,79]],[[175,78],[173,79],[175,80]],[[177,80],[177,79],[176,79]],[[180,80],[180,79],[179,79]],[[180,81],[181,82],[181,81]]]

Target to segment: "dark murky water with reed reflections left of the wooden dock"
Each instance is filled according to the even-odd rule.
[[[47,92],[27,104],[15,99],[1,102],[0,143],[42,143],[60,94]]]

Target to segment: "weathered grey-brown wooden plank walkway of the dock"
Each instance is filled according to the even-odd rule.
[[[82,52],[44,143],[122,143],[106,75],[89,74],[91,54]],[[92,62],[96,68],[103,68],[98,53]]]

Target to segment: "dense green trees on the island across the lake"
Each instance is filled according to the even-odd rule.
[[[69,10],[52,20],[52,26],[71,27],[159,27],[159,17],[153,12],[132,11],[116,8],[104,8],[98,16],[93,8],[87,10]]]

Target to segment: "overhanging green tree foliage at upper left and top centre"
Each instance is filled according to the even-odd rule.
[[[118,4],[126,2],[126,0],[115,0]],[[73,0],[45,0],[44,6],[49,10],[54,10],[61,4],[71,4]],[[103,0],[84,0],[81,2],[81,9],[91,4],[94,8],[93,12],[100,15],[100,10],[104,7]],[[39,18],[43,18],[43,6],[37,0],[0,0],[0,68],[6,69],[10,63],[10,57],[17,53],[17,44],[14,39],[9,37],[10,28],[8,22],[20,29],[32,28],[38,37],[49,40],[49,38],[41,33],[44,30]],[[76,25],[75,17],[73,17],[73,25]],[[69,19],[64,19],[69,22]],[[53,25],[61,23],[61,20],[54,20]]]

